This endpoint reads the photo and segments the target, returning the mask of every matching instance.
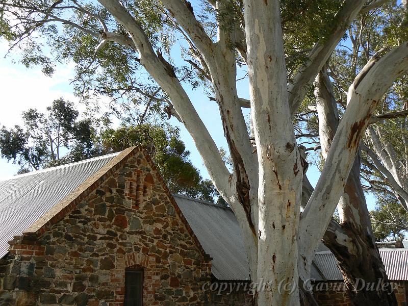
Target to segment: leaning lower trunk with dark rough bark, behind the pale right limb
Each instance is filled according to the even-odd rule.
[[[391,306],[397,300],[391,286],[386,290],[362,290],[362,284],[389,284],[384,264],[372,234],[370,216],[360,184],[360,157],[351,169],[339,202],[341,230],[346,241],[338,239],[337,232],[327,231],[324,244],[335,254],[353,305]],[[359,280],[359,282],[358,282]]]

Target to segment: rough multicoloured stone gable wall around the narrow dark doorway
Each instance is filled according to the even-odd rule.
[[[99,182],[39,237],[10,243],[0,305],[122,305],[126,267],[144,269],[145,305],[209,304],[210,259],[144,155]]]

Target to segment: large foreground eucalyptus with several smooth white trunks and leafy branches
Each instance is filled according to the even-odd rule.
[[[299,290],[308,287],[314,254],[360,140],[382,95],[408,69],[407,42],[375,54],[348,84],[347,106],[301,214],[307,163],[293,119],[349,25],[385,2],[207,0],[200,12],[184,0],[0,4],[2,33],[24,48],[24,64],[53,70],[38,35],[32,35],[37,32],[48,38],[57,60],[78,62],[79,93],[93,88],[112,96],[144,96],[146,106],[163,108],[185,125],[241,226],[251,280],[266,286],[257,294],[258,304],[280,306],[298,305]],[[56,25],[61,23],[62,29]],[[187,65],[170,57],[176,47]],[[249,100],[237,93],[239,66],[248,71]],[[223,163],[185,82],[204,87],[218,104],[233,171]],[[241,107],[250,108],[252,135]],[[291,290],[279,290],[282,282],[293,284]],[[387,293],[380,293],[376,304],[393,304]]]

